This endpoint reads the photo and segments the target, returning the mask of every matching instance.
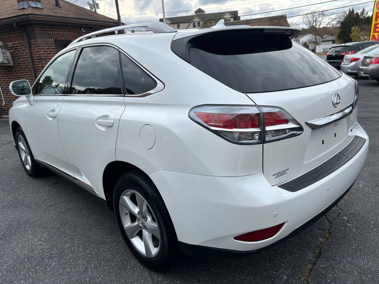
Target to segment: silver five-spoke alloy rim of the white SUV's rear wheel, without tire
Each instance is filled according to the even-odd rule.
[[[146,257],[157,256],[161,248],[160,228],[146,200],[134,190],[125,190],[119,211],[125,233],[136,250]]]

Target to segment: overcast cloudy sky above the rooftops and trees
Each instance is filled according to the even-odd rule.
[[[75,4],[88,8],[88,0],[68,0],[75,2]],[[92,2],[92,0],[89,0]],[[348,6],[356,3],[368,2],[370,0],[336,0],[334,2],[323,3],[318,5],[306,6],[302,8],[288,9],[284,11],[274,11],[278,9],[285,9],[297,7],[301,5],[309,5],[320,3],[328,0],[164,0],[164,9],[166,17],[184,16],[194,14],[194,10],[202,8],[206,13],[221,12],[238,10],[241,19],[266,17],[280,14],[287,14],[288,21],[295,20],[301,27],[301,16],[290,17],[299,14],[310,12],[313,9],[332,9],[341,6]],[[100,5],[100,14],[117,19],[116,5],[114,0],[97,0]],[[149,22],[158,21],[162,16],[162,2],[161,0],[119,0],[121,20],[124,23],[135,22]],[[363,7],[372,14],[373,2],[353,6],[356,11],[360,11]],[[342,8],[332,10],[330,13],[337,13],[347,11],[349,8]],[[265,10],[265,11],[262,11]],[[179,11],[179,12],[178,12]],[[183,11],[183,12],[180,12]],[[265,12],[262,14],[255,14],[258,12]],[[244,14],[255,14],[243,16]]]

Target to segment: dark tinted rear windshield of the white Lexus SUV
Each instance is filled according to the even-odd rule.
[[[241,31],[241,30],[238,30]],[[272,92],[326,83],[341,76],[323,59],[294,44],[288,35],[238,33],[196,36],[186,53],[191,65],[242,93]],[[185,54],[188,58],[185,58]]]

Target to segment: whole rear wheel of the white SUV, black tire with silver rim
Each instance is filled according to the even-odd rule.
[[[147,209],[143,208],[145,212],[141,213],[144,201]],[[151,179],[137,170],[124,173],[114,187],[113,205],[122,237],[133,255],[150,268],[170,267],[179,253],[178,239],[166,205]],[[152,224],[158,226],[158,232]],[[127,234],[124,226],[133,228]],[[146,243],[150,244],[148,248]]]

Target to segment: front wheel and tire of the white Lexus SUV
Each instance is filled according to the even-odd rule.
[[[43,172],[42,166],[39,165],[35,160],[33,153],[30,150],[28,140],[25,137],[21,127],[17,127],[15,134],[16,148],[19,153],[19,158],[25,172],[36,178]]]

